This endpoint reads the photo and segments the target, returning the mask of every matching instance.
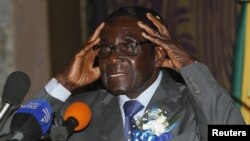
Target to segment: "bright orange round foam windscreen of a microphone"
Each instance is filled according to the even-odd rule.
[[[74,130],[79,131],[89,124],[91,120],[91,110],[87,104],[77,101],[70,104],[64,112],[64,121],[70,117],[78,121],[79,125]]]

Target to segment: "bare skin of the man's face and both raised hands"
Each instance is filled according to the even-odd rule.
[[[114,95],[126,94],[137,97],[153,83],[160,67],[179,71],[192,64],[195,58],[175,43],[159,17],[147,13],[158,31],[129,17],[119,17],[109,25],[102,23],[80,50],[66,70],[56,79],[69,90],[86,86],[102,77],[106,89]],[[100,36],[101,35],[101,36]],[[99,59],[99,67],[93,68],[96,54],[93,46],[98,43],[117,45],[128,41],[149,40],[156,45],[153,52],[143,45],[137,56],[118,56],[116,52],[107,58]],[[101,42],[100,42],[101,41]]]

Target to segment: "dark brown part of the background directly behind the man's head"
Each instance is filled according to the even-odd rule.
[[[137,5],[159,12],[172,36],[230,90],[240,10],[236,0],[51,0],[48,4],[52,75],[66,66],[108,14]]]

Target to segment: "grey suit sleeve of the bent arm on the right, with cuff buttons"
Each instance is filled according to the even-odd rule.
[[[181,69],[193,99],[193,106],[206,124],[245,124],[229,93],[214,79],[208,68],[194,63]]]

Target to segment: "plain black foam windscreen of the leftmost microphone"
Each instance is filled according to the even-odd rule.
[[[12,72],[3,87],[2,103],[19,106],[30,88],[30,79],[21,71]]]

